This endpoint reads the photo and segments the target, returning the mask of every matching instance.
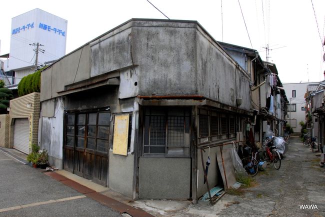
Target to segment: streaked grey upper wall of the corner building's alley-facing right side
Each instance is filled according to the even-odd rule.
[[[205,31],[198,28],[196,35],[198,94],[234,107],[237,106],[236,98],[242,98],[239,108],[249,110],[246,73]]]

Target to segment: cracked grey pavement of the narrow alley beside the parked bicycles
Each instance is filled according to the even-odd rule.
[[[154,200],[134,203],[155,216],[325,216],[324,177],[319,157],[292,136],[279,170],[267,165],[252,178],[252,187],[227,193],[213,206],[201,201],[187,207],[161,201],[170,204],[164,208]]]

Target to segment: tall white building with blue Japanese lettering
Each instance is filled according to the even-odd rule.
[[[39,8],[12,18],[9,58],[3,64],[14,76],[10,84],[65,55],[66,27],[67,20]]]

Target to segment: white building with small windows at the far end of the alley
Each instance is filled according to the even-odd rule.
[[[301,82],[301,83],[283,83],[285,93],[287,95],[289,104],[286,121],[293,129],[293,132],[300,133],[300,121],[305,122],[305,97],[307,86],[315,88],[319,82]]]

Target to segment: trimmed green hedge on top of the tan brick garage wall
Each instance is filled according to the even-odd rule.
[[[42,69],[40,69],[42,70]],[[24,76],[18,83],[18,95],[23,96],[40,91],[40,70]]]

